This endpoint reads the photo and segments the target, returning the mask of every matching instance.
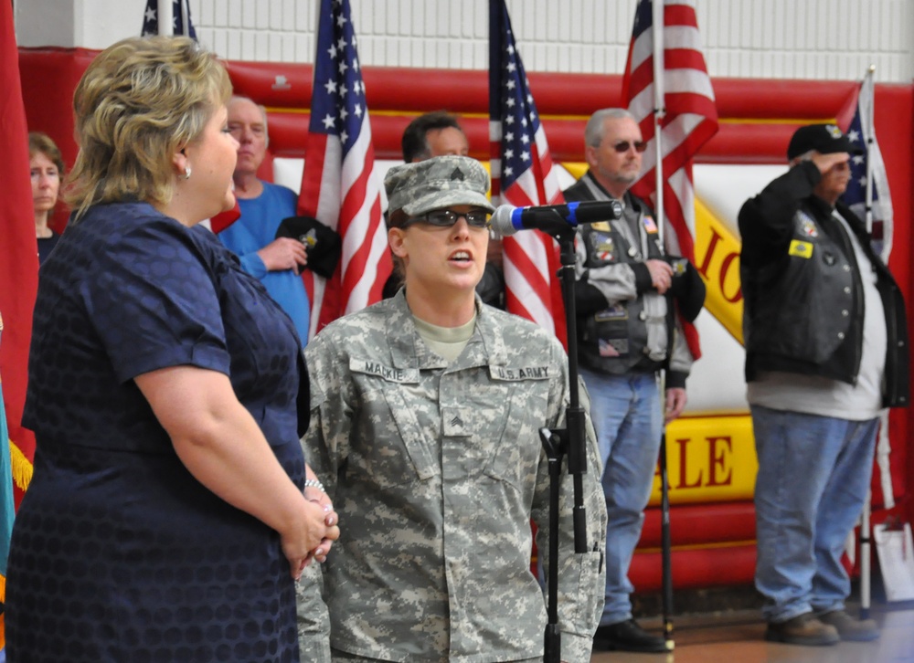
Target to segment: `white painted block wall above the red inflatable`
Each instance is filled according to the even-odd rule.
[[[367,66],[488,67],[487,0],[350,0]],[[20,46],[103,48],[136,35],[145,0],[14,0]],[[190,0],[229,59],[314,60],[316,0]],[[622,72],[635,0],[507,0],[529,71]],[[714,77],[914,78],[912,0],[696,0]]]

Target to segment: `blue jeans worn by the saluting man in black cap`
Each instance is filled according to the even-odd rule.
[[[848,421],[753,405],[755,586],[772,623],[841,610],[845,540],[863,510],[878,419]]]

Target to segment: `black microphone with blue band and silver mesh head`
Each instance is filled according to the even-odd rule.
[[[618,200],[589,200],[533,207],[499,205],[490,223],[494,230],[507,237],[514,235],[518,230],[542,230],[547,235],[556,235],[580,224],[615,221],[621,218],[622,204]]]

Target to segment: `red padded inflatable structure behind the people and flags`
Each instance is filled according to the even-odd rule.
[[[21,48],[20,71],[29,128],[48,132],[72,163],[72,92],[94,51]],[[303,157],[313,71],[310,65],[227,63],[236,93],[258,100],[269,110],[271,153]],[[400,158],[400,136],[418,113],[447,109],[461,116],[471,154],[488,159],[488,79],[479,70],[365,68],[367,106],[371,112],[375,153]],[[530,73],[553,158],[583,161],[583,129],[593,110],[621,103],[618,75]],[[701,163],[784,163],[787,142],[801,124],[837,121],[847,126],[854,112],[858,84],[853,81],[714,79],[720,131],[698,155]],[[914,173],[914,86],[880,84],[876,88],[876,127],[887,165],[895,208],[892,271],[914,311],[910,269],[912,173]],[[911,322],[909,321],[909,324]],[[914,328],[914,324],[911,325]],[[741,367],[734,367],[740,370]],[[914,413],[892,413],[893,481],[898,515],[914,521],[909,500],[914,451],[908,433]],[[886,517],[879,511],[874,521]],[[755,519],[744,502],[677,504],[671,517],[677,587],[749,584],[755,563]],[[639,590],[660,587],[659,513],[649,510],[640,553],[632,563]]]

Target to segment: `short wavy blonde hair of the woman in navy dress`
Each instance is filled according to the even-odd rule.
[[[187,37],[131,37],[92,60],[73,95],[80,153],[66,199],[76,210],[126,199],[167,204],[173,156],[231,95],[226,68]]]

